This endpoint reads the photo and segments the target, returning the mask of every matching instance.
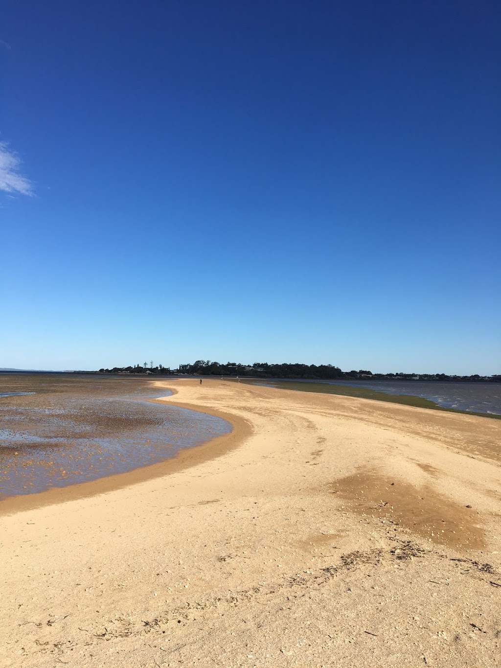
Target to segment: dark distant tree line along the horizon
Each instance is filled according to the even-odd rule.
[[[297,378],[313,380],[434,380],[434,381],[491,381],[501,382],[501,375],[482,376],[475,373],[469,376],[447,375],[446,373],[371,373],[365,369],[359,371],[341,371],[339,367],[332,364],[269,364],[267,362],[255,362],[252,365],[240,362],[212,362],[210,360],[197,359],[192,364],[180,364],[178,369],[170,369],[161,364],[153,366],[153,362],[144,362],[130,367],[113,367],[113,369],[100,369],[100,373],[143,373],[146,375],[214,375],[214,376],[238,376],[253,378]]]

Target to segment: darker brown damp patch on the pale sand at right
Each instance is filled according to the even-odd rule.
[[[347,500],[352,510],[367,520],[378,519],[389,524],[388,528],[397,525],[458,550],[481,550],[485,546],[484,531],[476,524],[478,513],[428,485],[414,486],[360,468],[329,486],[333,494]]]

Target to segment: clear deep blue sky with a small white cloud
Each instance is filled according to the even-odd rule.
[[[0,367],[501,373],[500,19],[5,1]]]

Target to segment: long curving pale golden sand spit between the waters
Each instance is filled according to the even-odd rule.
[[[500,422],[164,386],[234,432],[3,502],[0,666],[501,664]]]

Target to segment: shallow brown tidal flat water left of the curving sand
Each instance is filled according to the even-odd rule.
[[[170,392],[142,379],[10,377],[12,391],[0,383],[0,495],[148,466],[231,430],[212,415],[148,401]]]

